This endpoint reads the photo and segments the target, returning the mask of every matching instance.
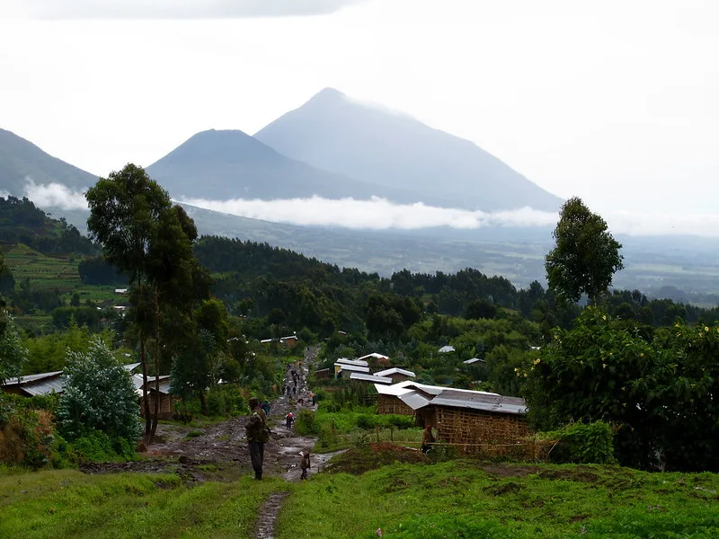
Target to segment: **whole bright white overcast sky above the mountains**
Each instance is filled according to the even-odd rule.
[[[596,211],[719,214],[717,21],[711,0],[0,0],[0,128],[105,175],[332,86]]]

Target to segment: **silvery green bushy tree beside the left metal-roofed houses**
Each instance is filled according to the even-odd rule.
[[[87,353],[68,352],[65,376],[58,420],[67,439],[99,430],[111,439],[138,440],[135,384],[102,340],[93,338]]]

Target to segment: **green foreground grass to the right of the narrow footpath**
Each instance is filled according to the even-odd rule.
[[[377,528],[383,537],[402,538],[719,536],[716,474],[573,465],[486,469],[502,474],[472,461],[321,474],[287,499],[276,536],[370,538]]]

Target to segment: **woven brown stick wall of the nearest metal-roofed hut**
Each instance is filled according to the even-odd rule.
[[[457,444],[461,453],[504,455],[511,449],[510,445],[518,444],[529,434],[527,418],[523,415],[444,406],[431,408],[437,419],[439,440]]]

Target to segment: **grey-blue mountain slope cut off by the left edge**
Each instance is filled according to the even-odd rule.
[[[71,190],[84,190],[97,178],[90,172],[46,154],[38,146],[0,129],[0,191],[22,197],[26,181],[62,183]]]

